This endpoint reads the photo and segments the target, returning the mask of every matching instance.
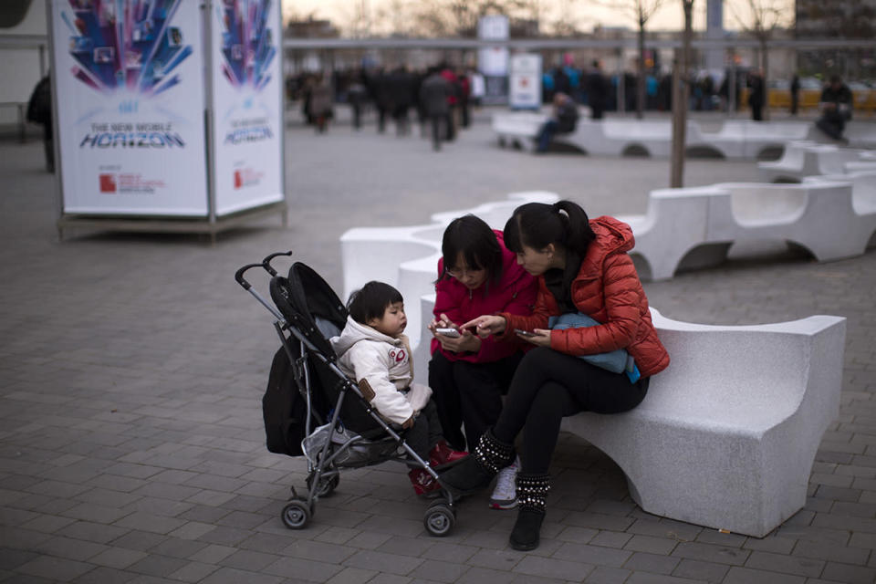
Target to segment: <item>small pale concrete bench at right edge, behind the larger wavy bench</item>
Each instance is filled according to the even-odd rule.
[[[791,141],[787,143],[781,159],[758,162],[757,168],[770,183],[799,183],[804,176],[841,173],[847,162],[860,161],[864,152],[832,144]]]

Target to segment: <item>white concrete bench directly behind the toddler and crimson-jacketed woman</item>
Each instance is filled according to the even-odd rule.
[[[416,298],[434,291],[441,238],[456,217],[474,214],[494,229],[502,229],[519,205],[557,200],[557,194],[544,191],[510,193],[505,201],[433,214],[431,224],[349,229],[340,236],[344,298],[370,280],[381,280],[398,288],[409,304],[415,303]],[[407,334],[413,346],[419,340],[422,322],[417,310],[409,309],[407,317]]]

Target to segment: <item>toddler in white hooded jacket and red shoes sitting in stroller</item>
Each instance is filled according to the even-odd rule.
[[[444,440],[432,390],[412,382],[401,293],[389,284],[371,281],[350,295],[347,308],[347,326],[339,337],[330,339],[340,370],[356,381],[384,420],[407,431],[405,441],[433,468],[462,461],[468,453],[454,451]],[[408,476],[417,495],[441,488],[420,466],[413,467]]]

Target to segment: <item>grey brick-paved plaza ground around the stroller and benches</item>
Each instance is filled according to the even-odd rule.
[[[661,519],[620,470],[563,435],[544,540],[506,547],[514,513],[472,497],[453,534],[426,535],[401,465],[342,475],[306,530],[283,527],[302,461],[264,447],[260,397],[277,341],[232,278],[279,249],[339,288],[354,225],[555,191],[591,214],[643,212],[666,162],[501,151],[486,124],[428,141],[287,133],[290,225],[211,246],[187,235],[81,234],[58,243],[41,150],[0,143],[0,581],[871,583],[876,579],[876,254],[815,264],[785,253],[649,284],[671,318],[749,324],[849,318],[840,418],[807,506],[763,539]],[[751,180],[750,162],[692,161],[687,183]],[[775,249],[767,248],[764,249]],[[255,278],[257,279],[257,278]]]

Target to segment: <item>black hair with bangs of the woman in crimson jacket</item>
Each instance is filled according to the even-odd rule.
[[[495,233],[480,217],[467,214],[457,217],[444,229],[441,240],[441,255],[444,270],[439,280],[450,277],[459,256],[462,255],[469,269],[485,269],[487,282],[498,282],[502,278],[502,246],[495,239]]]

